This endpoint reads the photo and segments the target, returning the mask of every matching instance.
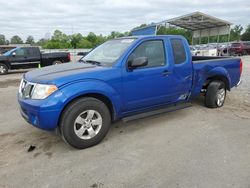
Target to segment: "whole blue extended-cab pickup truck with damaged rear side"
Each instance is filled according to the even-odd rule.
[[[221,107],[241,72],[240,58],[192,57],[181,36],[118,38],[78,63],[26,73],[18,101],[28,123],[59,130],[66,143],[83,149],[99,143],[118,119],[185,108],[201,94],[205,106]]]

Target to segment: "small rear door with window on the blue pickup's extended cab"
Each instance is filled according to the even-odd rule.
[[[174,101],[185,100],[192,87],[193,65],[188,44],[185,44],[181,38],[170,38],[171,54],[173,60],[172,82],[175,84]]]

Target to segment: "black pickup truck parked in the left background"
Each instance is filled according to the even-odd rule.
[[[70,53],[41,53],[38,47],[17,47],[0,56],[0,75],[13,69],[35,68],[40,65],[62,64],[70,62]]]

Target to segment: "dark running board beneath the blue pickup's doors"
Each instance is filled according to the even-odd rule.
[[[126,123],[128,121],[133,121],[133,120],[136,120],[136,119],[141,119],[141,118],[144,118],[144,117],[154,116],[154,115],[162,114],[162,113],[166,113],[166,112],[172,112],[172,111],[188,108],[188,107],[191,107],[191,106],[192,106],[191,103],[180,103],[180,104],[176,104],[176,105],[170,105],[170,106],[167,106],[165,108],[158,109],[158,110],[152,110],[152,111],[147,111],[147,112],[144,112],[144,113],[128,116],[128,117],[122,118],[122,121],[124,123]]]

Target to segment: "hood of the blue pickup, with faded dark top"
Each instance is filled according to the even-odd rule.
[[[72,81],[91,79],[96,75],[93,74],[94,72],[104,69],[108,69],[108,67],[84,63],[65,63],[30,71],[24,75],[24,78],[29,82],[55,84],[60,87]]]

